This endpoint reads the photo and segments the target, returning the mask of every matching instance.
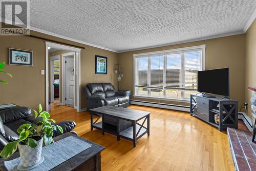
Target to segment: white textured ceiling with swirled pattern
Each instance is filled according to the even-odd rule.
[[[124,51],[242,31],[255,0],[32,0],[30,25]]]

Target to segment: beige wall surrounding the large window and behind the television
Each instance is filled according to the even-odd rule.
[[[176,49],[189,46],[206,45],[205,48],[205,69],[229,67],[230,72],[230,97],[244,103],[244,75],[245,75],[245,34],[221,37],[205,41],[183,43],[172,46],[136,50],[118,54],[120,65],[123,67],[124,78],[121,81],[122,89],[130,89],[133,92],[133,54],[154,52],[160,50]],[[178,105],[189,105],[189,103],[147,100],[133,98],[134,100],[171,103]]]

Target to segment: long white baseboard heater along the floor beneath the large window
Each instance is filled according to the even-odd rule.
[[[182,105],[173,105],[173,104],[166,104],[166,103],[156,103],[156,102],[147,102],[147,101],[140,101],[140,100],[131,100],[131,104],[135,105],[142,105],[142,106],[150,106],[150,107],[159,107],[164,109],[172,109],[172,110],[179,110],[179,111],[190,111],[189,106],[182,106]]]

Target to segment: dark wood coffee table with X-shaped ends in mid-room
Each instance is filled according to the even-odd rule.
[[[150,113],[148,111],[127,109],[117,106],[102,106],[91,109],[91,130],[100,129],[102,135],[109,132],[117,136],[117,140],[124,138],[133,141],[136,147],[136,141],[147,133],[150,135]],[[98,118],[94,121],[94,115]],[[102,118],[101,122],[98,120]],[[138,121],[143,120],[142,124]],[[144,126],[147,121],[147,127]]]

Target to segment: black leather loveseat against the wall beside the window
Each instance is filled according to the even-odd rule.
[[[101,106],[129,106],[129,96],[126,91],[115,91],[111,83],[89,83],[83,87],[87,99],[87,109]]]

